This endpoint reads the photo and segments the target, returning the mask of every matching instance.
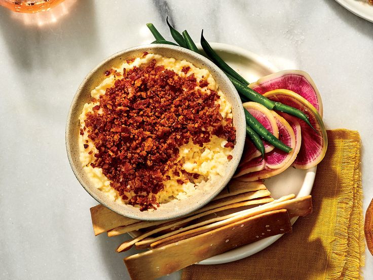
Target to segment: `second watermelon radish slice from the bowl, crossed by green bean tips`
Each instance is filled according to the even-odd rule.
[[[289,123],[279,116],[277,113],[272,111],[272,115],[276,119],[276,124],[279,129],[280,140],[287,146],[291,147],[293,150],[296,146],[295,133]],[[294,151],[290,153],[283,152],[279,149],[274,149],[273,151],[266,153],[264,159],[260,157],[254,158],[244,164],[240,165],[237,168],[237,172],[234,178],[242,176],[244,174],[256,173],[260,170],[270,170],[270,169],[279,169],[286,165],[289,160],[292,158]],[[264,163],[263,163],[264,162]],[[290,165],[290,162],[288,165]],[[262,167],[262,169],[258,169]],[[256,180],[256,179],[255,179]]]

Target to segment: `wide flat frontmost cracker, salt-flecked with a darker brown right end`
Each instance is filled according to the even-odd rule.
[[[151,280],[258,239],[289,231],[290,220],[282,209],[129,256],[124,263],[132,280]]]

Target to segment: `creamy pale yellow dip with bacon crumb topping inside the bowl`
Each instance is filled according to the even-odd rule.
[[[80,160],[111,200],[156,209],[225,175],[236,131],[207,69],[144,53],[105,73],[80,116]]]

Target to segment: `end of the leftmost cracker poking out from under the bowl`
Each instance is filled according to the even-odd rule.
[[[100,233],[106,232],[110,229],[119,226],[125,226],[139,222],[139,220],[134,220],[119,215],[111,211],[109,208],[103,206],[102,204],[98,204],[94,207],[91,207],[90,211],[93,231],[95,235],[98,235]]]

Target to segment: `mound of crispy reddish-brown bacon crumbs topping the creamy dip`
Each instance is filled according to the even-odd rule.
[[[203,147],[211,135],[234,146],[236,130],[230,120],[222,125],[219,95],[196,85],[194,74],[181,78],[153,60],[128,70],[86,114],[88,137],[97,149],[91,166],[102,168],[123,199],[133,192],[128,203],[141,211],[159,205],[155,194],[171,179],[169,171],[180,178],[178,184],[199,178],[181,169],[178,147],[190,141]]]

